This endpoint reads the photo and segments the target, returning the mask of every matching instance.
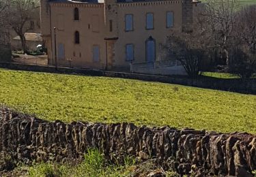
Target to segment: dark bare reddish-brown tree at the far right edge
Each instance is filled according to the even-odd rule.
[[[229,69],[241,78],[256,73],[256,5],[244,7],[237,12],[233,31]]]

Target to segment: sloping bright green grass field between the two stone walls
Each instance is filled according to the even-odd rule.
[[[0,103],[47,120],[256,133],[256,96],[120,78],[0,69]]]

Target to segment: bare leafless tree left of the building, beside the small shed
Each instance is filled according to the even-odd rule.
[[[23,52],[27,52],[25,33],[31,29],[29,22],[38,6],[38,0],[10,0],[5,8],[5,19],[20,37]]]

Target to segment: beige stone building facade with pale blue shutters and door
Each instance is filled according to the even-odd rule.
[[[129,69],[131,62],[160,60],[172,30],[190,30],[193,1],[41,0],[40,18],[49,64],[56,56],[57,65]]]

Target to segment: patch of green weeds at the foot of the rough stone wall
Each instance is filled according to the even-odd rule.
[[[124,165],[112,165],[104,159],[104,155],[96,148],[87,150],[84,160],[78,165],[68,163],[35,163],[29,167],[31,177],[125,177],[130,174],[130,167],[135,163],[132,157],[125,158]]]

